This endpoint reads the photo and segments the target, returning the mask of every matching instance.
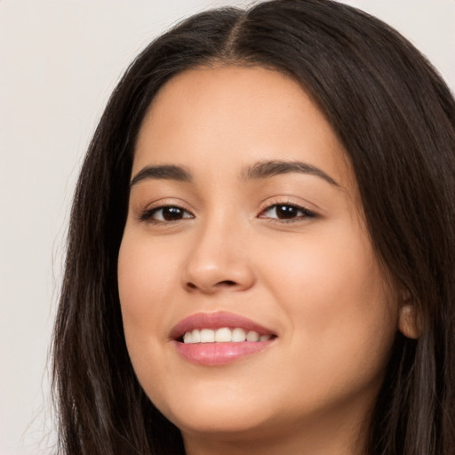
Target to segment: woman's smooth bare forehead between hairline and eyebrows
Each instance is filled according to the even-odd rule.
[[[267,160],[305,161],[352,180],[331,125],[300,84],[266,68],[195,68],[158,92],[140,128],[132,173],[150,164],[218,174]]]

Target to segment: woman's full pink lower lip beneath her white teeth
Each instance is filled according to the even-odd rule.
[[[273,342],[243,341],[239,343],[181,343],[175,341],[179,354],[188,362],[199,365],[222,365],[247,355],[258,354]]]

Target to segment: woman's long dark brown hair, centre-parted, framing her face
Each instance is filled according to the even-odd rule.
[[[427,60],[387,25],[330,0],[273,0],[200,13],[150,44],[108,102],[77,183],[53,341],[60,453],[184,453],[125,347],[116,261],[137,133],[172,76],[213,62],[299,81],[354,167],[379,260],[418,309],[397,335],[368,455],[455,448],[455,103]]]

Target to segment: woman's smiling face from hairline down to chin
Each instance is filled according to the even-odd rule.
[[[339,140],[291,78],[220,66],[164,85],[118,282],[134,370],[186,441],[345,434],[371,410],[396,299]]]

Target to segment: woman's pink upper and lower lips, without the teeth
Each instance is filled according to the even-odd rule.
[[[178,353],[188,362],[214,366],[234,362],[246,355],[257,354],[275,341],[275,337],[267,341],[243,341],[240,343],[185,344],[180,341],[186,331],[202,328],[220,329],[222,327],[240,327],[244,331],[257,331],[259,335],[274,335],[273,331],[241,315],[226,312],[198,313],[183,319],[172,329],[172,343]]]

